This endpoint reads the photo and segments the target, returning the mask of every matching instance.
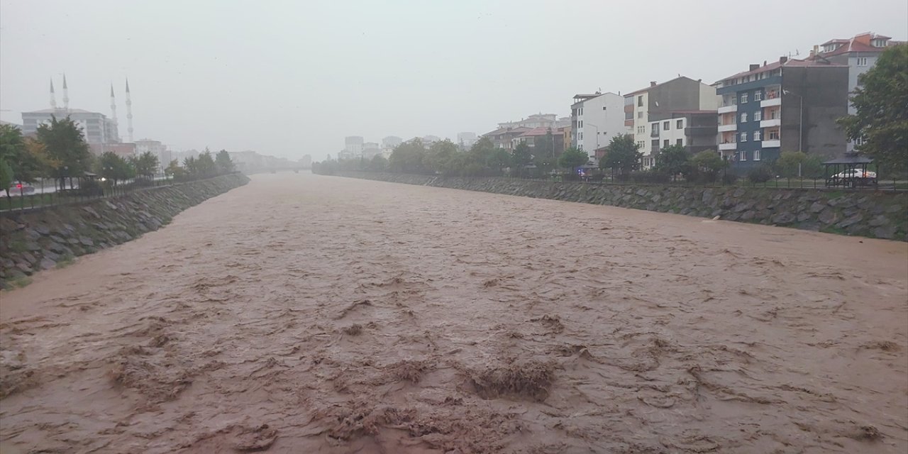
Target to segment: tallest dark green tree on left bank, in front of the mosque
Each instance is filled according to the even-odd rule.
[[[81,177],[92,164],[92,154],[82,130],[69,117],[57,120],[51,116],[51,123],[38,126],[37,138],[47,151],[49,159],[56,163],[51,169],[52,176],[64,186],[66,178]]]

